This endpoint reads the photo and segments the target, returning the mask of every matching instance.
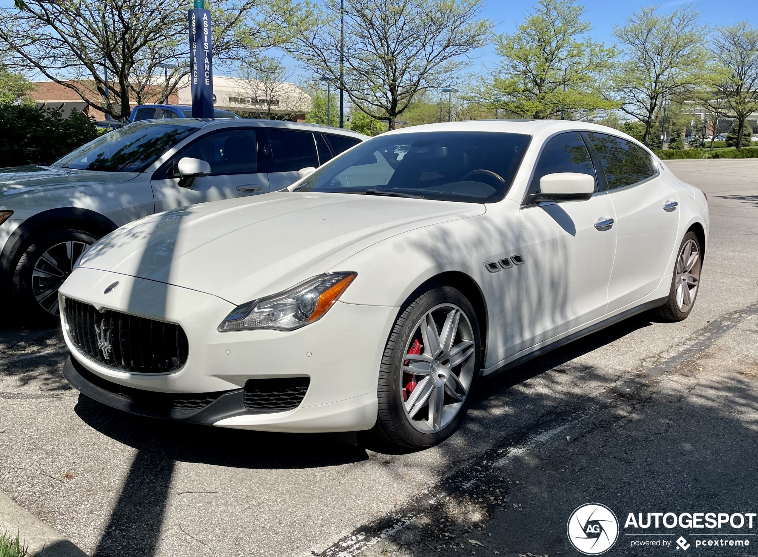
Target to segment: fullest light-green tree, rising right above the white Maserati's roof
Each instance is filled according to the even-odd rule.
[[[515,33],[497,37],[500,65],[481,99],[523,118],[613,108],[599,83],[615,49],[585,36],[592,27],[582,14],[574,0],[540,0]]]

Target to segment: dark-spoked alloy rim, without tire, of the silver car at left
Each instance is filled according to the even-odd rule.
[[[58,288],[90,245],[83,241],[61,242],[39,256],[32,271],[32,293],[43,310],[58,315]]]

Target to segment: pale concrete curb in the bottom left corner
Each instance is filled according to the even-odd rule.
[[[34,557],[87,557],[60,532],[44,524],[0,492],[0,530],[20,534],[21,543]]]

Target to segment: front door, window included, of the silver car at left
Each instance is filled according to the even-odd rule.
[[[255,128],[233,127],[205,134],[190,143],[153,174],[155,211],[268,192],[268,176],[258,172],[259,133]],[[195,178],[189,187],[181,187],[177,163],[183,157],[208,162],[211,174]]]

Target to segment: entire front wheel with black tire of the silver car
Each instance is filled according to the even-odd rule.
[[[70,275],[82,251],[97,240],[92,232],[74,228],[45,231],[33,239],[21,253],[13,275],[14,301],[22,319],[40,326],[55,325],[58,288]],[[49,258],[57,266],[52,266]],[[35,274],[35,269],[42,272]],[[40,276],[45,272],[49,272],[48,278]]]

